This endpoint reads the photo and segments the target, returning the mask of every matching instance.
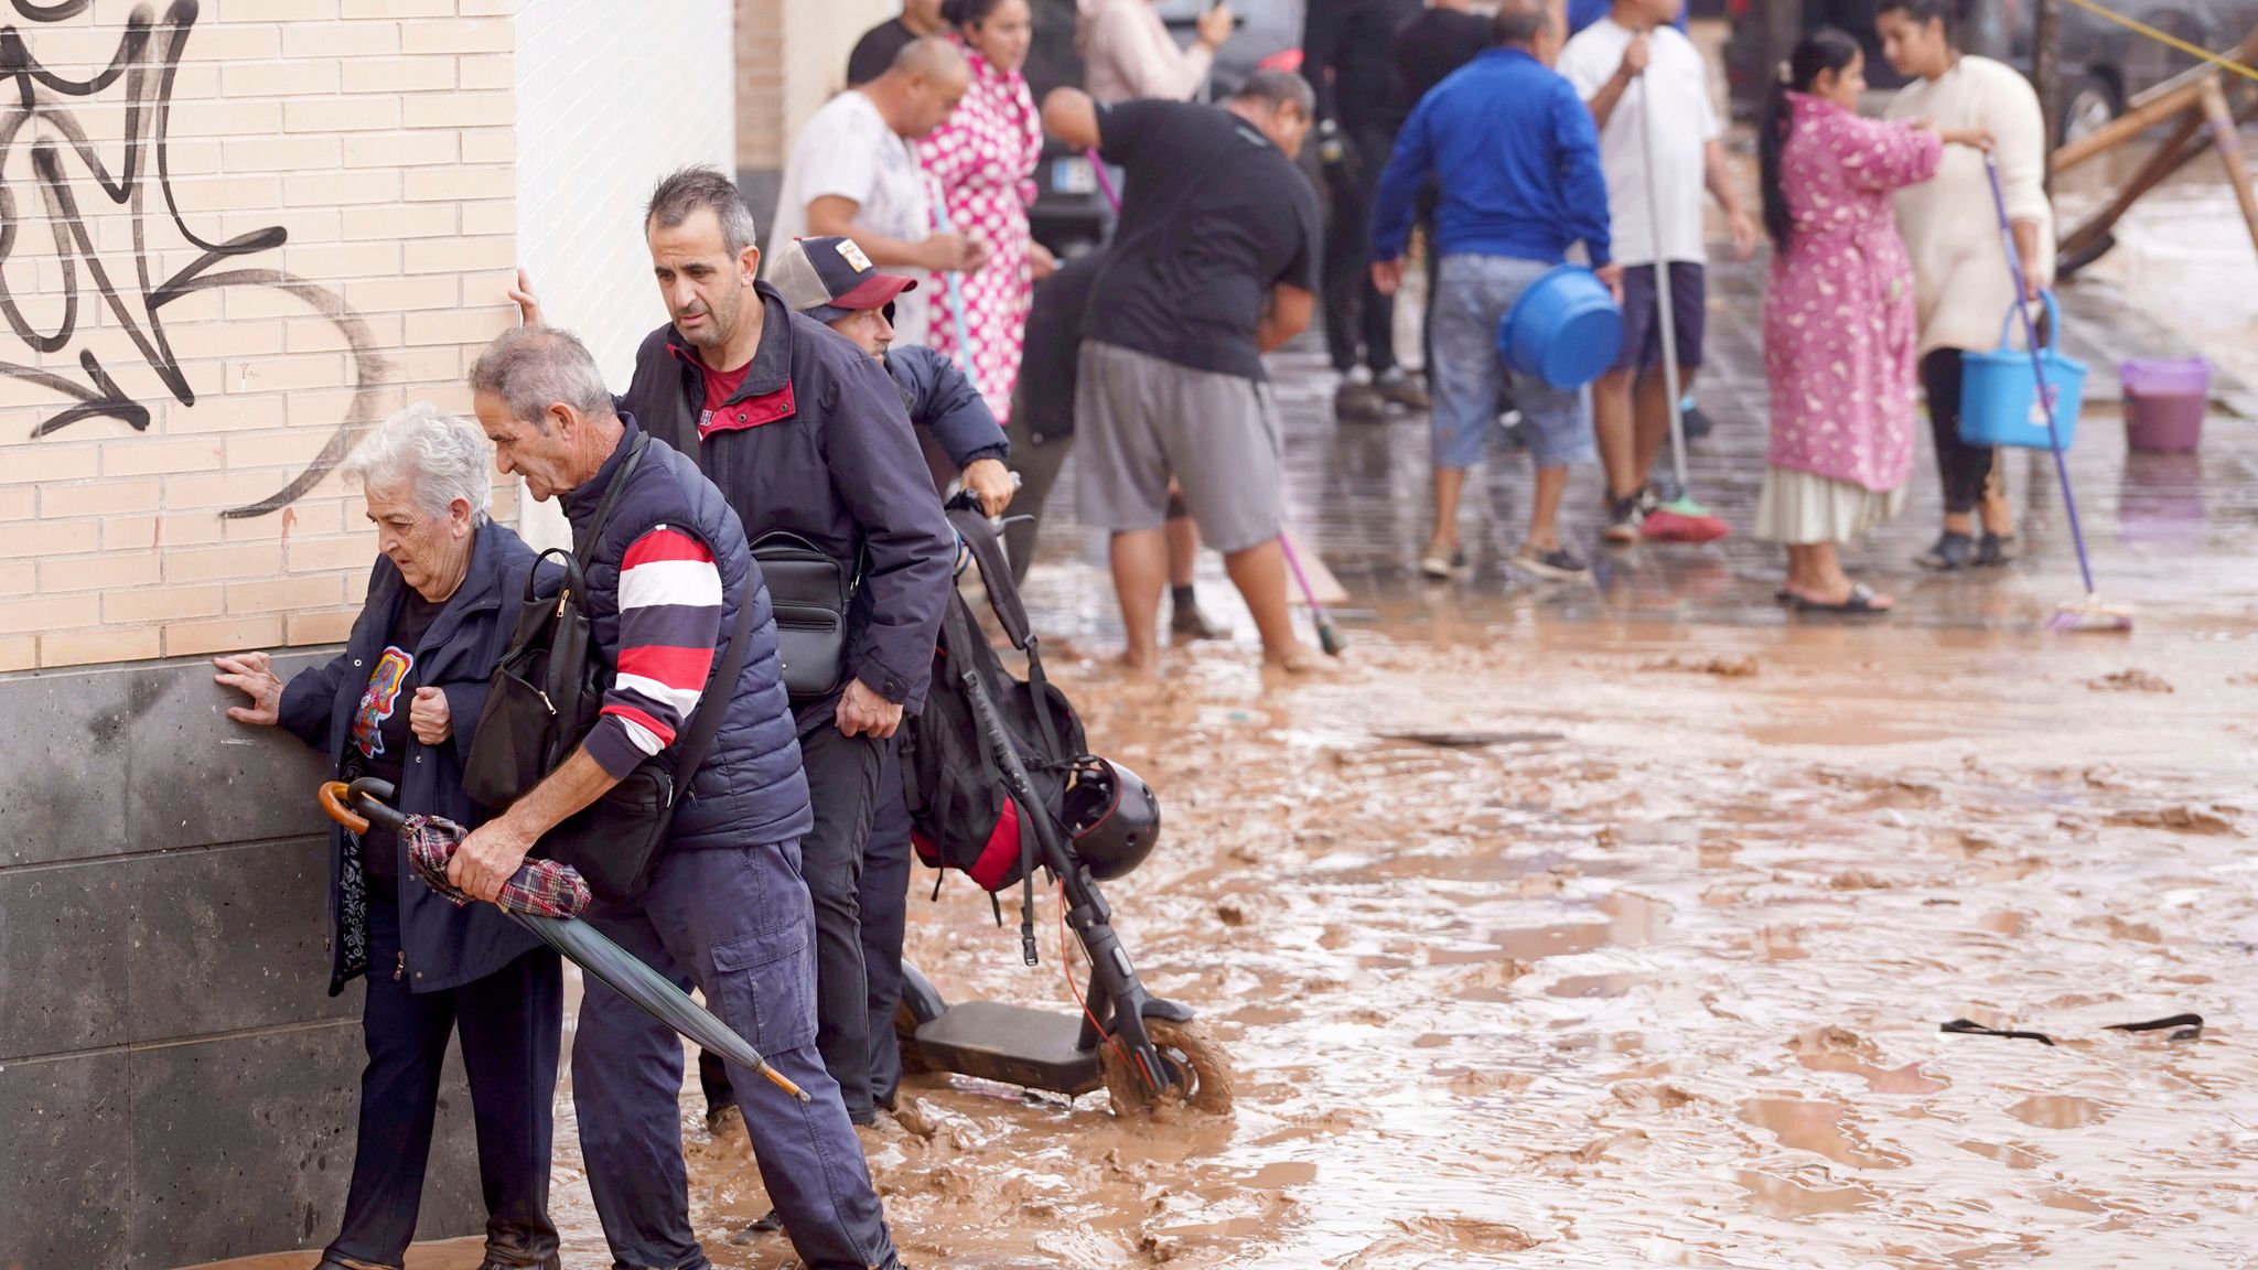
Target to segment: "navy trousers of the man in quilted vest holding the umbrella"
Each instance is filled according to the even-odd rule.
[[[813,1044],[815,917],[799,847],[666,852],[641,899],[596,902],[587,922],[680,988],[698,988],[813,1098],[799,1103],[765,1076],[729,1069],[761,1182],[799,1261],[894,1268],[863,1143]],[[587,1189],[614,1268],[704,1270],[682,1164],[682,1040],[592,981],[571,1067]]]

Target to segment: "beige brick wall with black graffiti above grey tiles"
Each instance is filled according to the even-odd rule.
[[[375,545],[330,466],[467,409],[513,319],[515,0],[167,9],[9,18],[50,75],[151,75],[41,88],[0,154],[0,669],[341,637]]]

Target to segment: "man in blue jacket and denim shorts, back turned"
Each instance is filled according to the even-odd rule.
[[[1380,176],[1373,212],[1373,285],[1402,285],[1404,237],[1420,185],[1441,185],[1429,251],[1443,258],[1434,303],[1434,533],[1420,567],[1468,572],[1459,547],[1459,493],[1497,425],[1504,364],[1497,323],[1522,292],[1583,244],[1610,287],[1608,183],[1599,172],[1592,113],[1549,70],[1560,32],[1544,0],[1506,0],[1486,50],[1420,99]],[[1540,579],[1590,576],[1560,542],[1567,470],[1592,461],[1592,432],[1576,393],[1524,380],[1513,389],[1538,468],[1529,540],[1513,565]]]

